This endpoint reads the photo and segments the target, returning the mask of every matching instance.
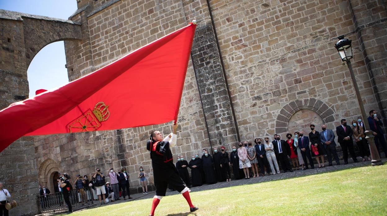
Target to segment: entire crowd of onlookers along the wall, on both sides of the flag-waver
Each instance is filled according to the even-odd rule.
[[[378,119],[376,111],[370,111],[367,120],[375,136],[377,148],[380,145],[384,152],[387,152],[381,128],[383,124]],[[358,117],[356,120],[351,121],[352,128],[347,125],[346,119],[342,119],[340,123],[341,125],[336,128],[336,135],[342,149],[344,164],[348,163],[348,152],[353,161],[358,162],[353,148],[353,141],[358,146],[359,156],[362,160],[371,160],[368,142],[365,139],[364,131],[366,131],[366,128],[363,119]],[[287,133],[286,139],[281,139],[279,134],[274,134],[272,141],[269,137],[255,138],[253,141],[246,140],[238,143],[237,146],[232,146],[230,152],[226,151],[224,146],[220,147],[220,151],[218,151],[218,148],[213,148],[213,155],[210,155],[207,149],[203,149],[202,155],[199,155],[199,153],[192,155],[189,162],[180,155],[177,157],[176,168],[185,185],[196,187],[205,183],[215,184],[216,182],[231,181],[230,167],[233,170],[234,179],[243,179],[243,177],[250,179],[250,177],[276,175],[281,172],[293,172],[293,170],[307,170],[309,167],[313,169],[315,168],[313,158],[316,160],[318,168],[323,168],[325,167],[325,156],[327,156],[329,166],[333,165],[333,159],[337,165],[340,165],[334,140],[336,135],[332,129],[327,129],[325,124],[321,126],[321,131],[317,131],[315,125],[310,124],[309,134],[295,131],[294,133]],[[378,152],[380,153],[379,148]],[[280,171],[280,166],[282,171]],[[190,168],[191,177],[188,168]],[[91,175],[90,180],[87,175],[76,176],[72,183],[77,189],[78,201],[82,205],[88,205],[91,199],[98,200],[100,205],[107,204],[109,199],[111,202],[121,198],[124,200],[127,198],[132,199],[126,168],[121,170],[110,168],[107,172],[110,182],[105,182],[106,176],[99,168]],[[139,168],[137,178],[140,180],[143,194],[147,194],[147,173],[143,167]],[[55,192],[62,194],[61,198],[58,198],[58,202],[61,203],[64,200],[71,212],[69,191],[73,188],[69,179],[70,176],[63,173],[58,179]],[[170,189],[173,190],[174,188],[170,187]],[[42,209],[46,209],[50,205],[46,199],[48,194],[50,194],[50,190],[39,185]]]

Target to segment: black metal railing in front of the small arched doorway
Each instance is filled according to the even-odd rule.
[[[70,202],[72,209],[94,204],[95,192],[91,187],[70,190]],[[98,199],[98,197],[97,197]],[[41,212],[55,212],[68,209],[63,199],[62,192],[39,196]],[[73,210],[74,211],[74,210]]]

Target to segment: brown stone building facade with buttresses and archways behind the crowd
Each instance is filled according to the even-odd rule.
[[[309,124],[335,129],[339,119],[356,119],[360,108],[351,76],[334,48],[342,34],[352,40],[352,64],[366,111],[379,111],[387,123],[383,1],[77,0],[77,4],[69,20],[0,11],[2,108],[27,97],[26,70],[48,43],[65,41],[68,77],[75,80],[196,19],[179,138],[172,149],[175,156],[190,158],[203,148],[222,145],[229,150],[240,140],[272,138],[274,133],[283,137],[296,130],[308,133]],[[47,32],[28,30],[38,29],[34,25]],[[34,38],[34,44],[25,37]],[[17,199],[33,207],[13,211],[36,213],[36,196],[31,194],[36,194],[38,182],[51,189],[57,171],[75,176],[90,175],[96,167],[104,172],[125,167],[134,192],[139,190],[137,172],[142,166],[150,172],[152,185],[145,148],[152,128],[163,134],[171,131],[167,123],[19,139],[0,153],[0,171],[5,173],[1,180],[18,194]],[[29,181],[23,182],[26,177]]]

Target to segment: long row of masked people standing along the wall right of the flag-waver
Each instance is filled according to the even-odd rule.
[[[378,119],[375,110],[370,111],[367,121],[375,136],[375,144],[379,150],[379,144],[383,151],[387,152],[387,146],[381,128],[382,121]],[[352,128],[351,128],[352,126]],[[340,126],[336,128],[336,135],[341,146],[344,164],[348,164],[348,152],[354,162],[358,162],[354,152],[354,142],[358,146],[359,156],[363,161],[371,160],[368,141],[365,139],[365,124],[362,117],[351,121],[351,126],[347,125],[346,119],[340,121]],[[332,166],[334,159],[340,165],[336,152],[335,134],[332,129],[327,129],[323,124],[321,131],[317,131],[314,124],[310,124],[310,133],[295,131],[287,133],[286,139],[274,134],[274,140],[269,137],[255,138],[254,141],[243,141],[238,146],[233,146],[231,152],[226,151],[221,146],[214,148],[213,155],[207,149],[202,150],[202,155],[192,155],[188,162],[183,156],[177,157],[176,168],[186,185],[200,186],[204,183],[214,184],[216,182],[231,181],[230,166],[233,169],[234,179],[250,179],[265,175],[276,175],[282,172],[293,172],[293,170],[307,170],[325,167],[325,157],[328,166]],[[254,143],[254,145],[253,145]],[[385,155],[386,156],[386,155]],[[188,168],[191,170],[191,179],[188,175]],[[250,173],[250,170],[252,173]]]

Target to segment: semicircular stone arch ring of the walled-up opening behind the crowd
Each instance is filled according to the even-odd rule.
[[[290,118],[302,109],[309,109],[316,112],[321,117],[323,124],[333,122],[335,120],[334,110],[321,100],[316,100],[314,98],[295,100],[286,104],[279,112],[276,119],[276,133],[279,134],[288,131]]]

